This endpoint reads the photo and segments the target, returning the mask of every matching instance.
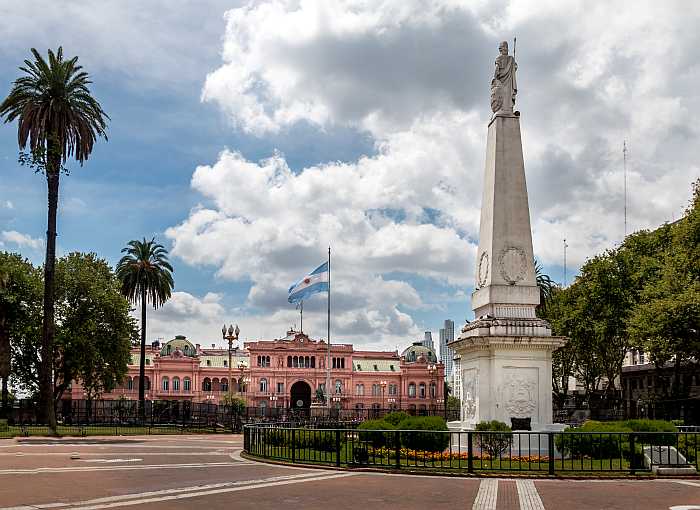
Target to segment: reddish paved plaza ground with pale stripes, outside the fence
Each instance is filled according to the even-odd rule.
[[[221,434],[0,440],[0,510],[700,509],[700,479],[391,475],[263,464],[241,449]]]

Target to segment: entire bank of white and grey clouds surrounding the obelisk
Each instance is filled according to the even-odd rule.
[[[369,136],[375,152],[293,171],[282,153],[257,161],[224,150],[194,171],[202,202],[167,230],[172,253],[249,284],[244,313],[277,325],[295,320],[286,287],[331,245],[334,327],[360,343],[416,337],[417,313],[440,309],[440,296],[467,308],[490,75],[498,42],[517,33],[535,254],[560,265],[566,238],[578,266],[622,240],[623,140],[629,231],[672,219],[700,176],[689,121],[700,107],[689,57],[698,14],[449,0],[231,9],[203,101],[273,143],[302,127],[342,126]],[[308,313],[323,330],[322,302]]]

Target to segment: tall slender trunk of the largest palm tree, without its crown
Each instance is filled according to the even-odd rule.
[[[46,260],[44,262],[44,318],[41,331],[41,365],[39,390],[42,418],[49,433],[56,433],[56,412],[53,400],[53,344],[54,344],[54,273],[56,268],[56,212],[58,209],[58,181],[60,159],[52,154],[49,144],[46,181],[49,191],[48,225],[46,229]],[[57,164],[58,163],[58,164]]]

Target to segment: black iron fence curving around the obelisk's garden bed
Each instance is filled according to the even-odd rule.
[[[645,473],[698,464],[697,432],[483,432],[244,427],[254,457],[298,464],[465,473]]]

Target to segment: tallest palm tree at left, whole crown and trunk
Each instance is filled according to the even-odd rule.
[[[25,60],[10,94],[0,104],[5,123],[18,121],[20,150],[29,144],[30,166],[43,172],[48,185],[48,228],[44,262],[44,317],[41,336],[39,386],[42,411],[51,431],[56,429],[53,397],[54,270],[56,262],[56,210],[62,165],[75,157],[81,165],[92,153],[98,137],[107,139],[109,116],[90,95],[92,83],[78,65],[78,57],[63,58],[63,48],[48,50],[48,61],[32,48],[34,61]]]

